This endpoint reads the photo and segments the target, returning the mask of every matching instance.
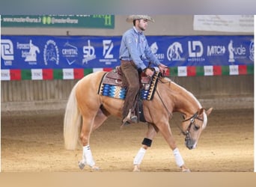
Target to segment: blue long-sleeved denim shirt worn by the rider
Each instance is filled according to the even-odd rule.
[[[144,70],[144,61],[150,61],[154,65],[160,64],[156,56],[151,52],[147,39],[143,32],[138,32],[135,27],[126,31],[121,40],[119,58],[124,61],[133,61],[138,69]]]

